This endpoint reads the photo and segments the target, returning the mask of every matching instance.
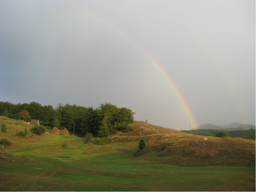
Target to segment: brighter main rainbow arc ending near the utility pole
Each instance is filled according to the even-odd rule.
[[[174,81],[171,79],[170,76],[167,75],[167,73],[165,72],[164,68],[161,66],[161,64],[151,55],[149,54],[149,52],[142,47],[137,41],[135,41],[134,38],[132,38],[132,36],[130,36],[129,34],[127,34],[124,30],[122,30],[121,28],[119,28],[118,26],[114,25],[113,23],[109,22],[108,20],[106,20],[105,18],[101,17],[100,15],[88,11],[90,13],[90,15],[92,15],[94,18],[96,18],[97,20],[103,21],[105,24],[107,24],[109,27],[113,28],[115,31],[117,31],[119,34],[121,34],[122,36],[124,36],[127,40],[129,40],[137,49],[139,49],[145,56],[146,58],[148,58],[148,60],[154,65],[154,67],[156,68],[156,70],[161,74],[161,76],[164,77],[164,80],[167,82],[167,84],[171,87],[172,91],[174,92],[174,94],[176,95],[177,99],[179,100],[182,108],[184,109],[186,115],[188,116],[188,121],[190,121],[191,123],[191,128],[197,128],[198,125],[196,123],[196,119],[193,116],[193,113],[191,112],[186,100],[184,99],[184,97],[182,96],[181,92],[179,91],[178,87],[175,85]]]

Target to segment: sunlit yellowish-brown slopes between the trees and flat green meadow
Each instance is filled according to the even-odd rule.
[[[65,153],[65,156],[84,156],[115,153],[127,158],[138,158],[141,161],[178,166],[255,165],[255,141],[189,135],[141,121],[134,121],[131,124],[133,129],[131,132],[118,132],[112,135],[110,143],[103,148],[93,143],[84,144],[83,138],[49,132],[35,135],[28,131],[25,138],[16,136],[17,132],[23,131],[25,127],[30,130],[31,126],[8,118],[1,118],[0,124],[2,122],[6,123],[7,132],[1,135],[0,139],[10,140],[12,145],[5,149],[16,155],[61,156]],[[139,156],[134,156],[141,137],[146,139],[146,149]],[[70,148],[68,152],[61,147],[64,143]]]

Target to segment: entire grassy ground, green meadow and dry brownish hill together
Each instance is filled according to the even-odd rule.
[[[76,136],[35,135],[30,125],[0,117],[3,122],[7,132],[0,139],[12,144],[0,150],[1,191],[255,189],[255,140],[190,136],[134,121],[133,131],[95,145]],[[15,135],[25,127],[25,138]],[[141,137],[146,148],[135,156]]]

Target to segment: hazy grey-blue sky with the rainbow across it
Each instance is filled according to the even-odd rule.
[[[1,0],[0,101],[255,124],[255,0]]]

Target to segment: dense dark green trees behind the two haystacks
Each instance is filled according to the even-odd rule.
[[[42,106],[37,102],[13,104],[0,101],[0,115],[29,122],[38,119],[40,124],[47,127],[56,126],[59,129],[67,128],[69,132],[85,135],[106,137],[117,131],[128,132],[129,124],[133,122],[134,112],[128,108],[118,108],[111,103],[101,104],[98,108],[77,105],[63,105],[56,108],[51,105]]]

